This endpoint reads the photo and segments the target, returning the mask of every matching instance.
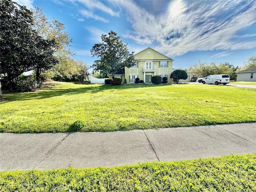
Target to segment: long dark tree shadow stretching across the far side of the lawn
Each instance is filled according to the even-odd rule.
[[[76,83],[75,83],[76,84]],[[147,88],[147,87],[160,87],[160,86],[171,86],[172,84],[124,84],[120,86],[111,86],[111,85],[100,85],[100,86],[90,86],[91,84],[85,84],[85,87],[82,88],[67,88],[67,89],[56,89],[54,87],[46,87],[38,92],[27,92],[27,93],[13,93],[13,94],[6,94],[6,98],[8,100],[3,100],[0,104],[6,102],[12,102],[15,100],[37,100],[37,99],[46,99],[52,98],[56,96],[69,96],[75,94],[84,94],[84,93],[98,93],[103,92],[105,90],[125,90],[125,89],[136,89],[136,88]],[[88,85],[88,86],[86,86]]]

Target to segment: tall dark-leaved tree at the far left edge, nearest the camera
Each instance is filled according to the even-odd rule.
[[[33,68],[36,35],[32,12],[11,0],[1,0],[1,71],[6,87],[15,90],[18,76]]]

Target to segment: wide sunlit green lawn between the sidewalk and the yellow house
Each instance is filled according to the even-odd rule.
[[[56,82],[4,94],[0,132],[114,131],[256,122],[256,89],[202,84]]]

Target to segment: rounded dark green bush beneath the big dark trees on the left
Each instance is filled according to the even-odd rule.
[[[40,88],[41,85],[36,81],[34,76],[21,75],[17,82],[17,92],[31,92]]]

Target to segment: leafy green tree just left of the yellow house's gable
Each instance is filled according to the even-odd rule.
[[[91,49],[92,56],[99,58],[92,65],[96,71],[112,74],[114,79],[116,71],[135,65],[134,52],[131,54],[128,52],[127,44],[123,44],[116,32],[110,31],[108,36],[102,34],[101,39],[102,43],[94,44]]]

